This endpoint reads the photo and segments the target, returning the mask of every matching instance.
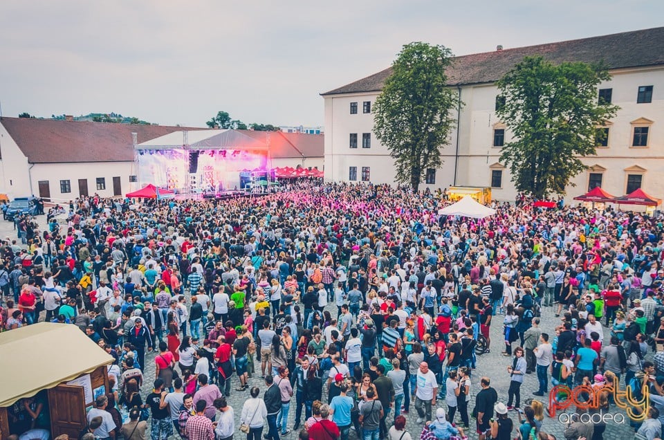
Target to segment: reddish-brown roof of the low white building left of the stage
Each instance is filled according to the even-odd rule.
[[[132,133],[141,143],[173,131],[203,129],[29,118],[0,118],[0,124],[29,163],[130,162]]]

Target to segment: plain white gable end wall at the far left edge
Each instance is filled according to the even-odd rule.
[[[0,124],[0,192],[9,199],[30,195],[28,158]]]

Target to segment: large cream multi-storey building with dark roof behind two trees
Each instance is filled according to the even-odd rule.
[[[584,158],[589,166],[573,179],[569,196],[601,186],[620,196],[642,187],[664,196],[664,27],[502,49],[456,57],[446,72],[459,94],[457,127],[443,149],[444,164],[427,170],[421,187],[490,186],[495,199],[512,200],[516,191],[509,169],[499,162],[511,134],[496,116],[495,83],[526,55],[555,63],[605,62],[611,80],[599,95],[620,107],[607,121],[607,145]],[[322,93],[325,105],[326,181],[394,183],[394,161],[372,132],[372,106],[391,68]],[[598,96],[598,99],[600,98]]]

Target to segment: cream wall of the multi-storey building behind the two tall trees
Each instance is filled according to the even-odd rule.
[[[630,68],[611,71],[611,80],[600,89],[612,89],[612,102],[620,107],[609,127],[608,147],[598,147],[597,155],[583,161],[593,170],[582,172],[573,178],[567,188],[568,199],[588,191],[589,173],[602,174],[602,188],[620,196],[627,190],[627,176],[643,176],[642,188],[652,196],[664,199],[664,66],[655,68]],[[652,103],[637,104],[638,86],[653,87]],[[423,183],[421,188],[447,187],[448,185],[490,186],[493,171],[501,171],[501,186],[492,190],[497,200],[513,200],[516,196],[510,181],[509,169],[499,162],[500,147],[493,146],[495,129],[504,124],[495,113],[498,93],[493,84],[463,86],[463,107],[458,116],[458,127],[450,134],[448,145],[443,147],[443,165],[436,170],[435,183]],[[387,148],[371,135],[371,148],[362,149],[362,133],[373,127],[372,114],[362,113],[362,102],[371,101],[372,107],[378,93],[331,95],[324,98],[325,107],[325,178],[327,181],[348,181],[349,167],[371,167],[371,182],[394,183],[394,161]],[[358,113],[350,114],[350,103],[358,102]],[[454,109],[454,118],[457,119]],[[652,123],[648,122],[652,121]],[[647,147],[631,147],[633,129],[637,125],[649,126]],[[358,148],[349,148],[349,134],[358,133]],[[458,137],[458,154],[457,154]],[[505,142],[511,140],[506,130]],[[597,165],[597,166],[595,166]],[[374,170],[375,169],[375,170]],[[456,179],[455,179],[456,172]]]

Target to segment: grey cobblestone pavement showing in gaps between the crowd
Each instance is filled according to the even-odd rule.
[[[39,223],[42,224],[42,227],[45,227],[46,224],[46,217],[45,216],[39,216]],[[42,229],[43,230],[43,229]],[[15,231],[13,230],[12,223],[9,221],[1,221],[0,222],[0,236],[2,237],[16,237]],[[332,315],[336,315],[336,308],[332,304],[328,306],[329,311],[331,311]],[[43,319],[43,317],[42,317]],[[510,365],[511,360],[510,358],[504,357],[501,355],[501,351],[504,348],[503,344],[503,335],[502,335],[502,318],[501,316],[497,315],[494,318],[494,323],[491,327],[491,352],[488,354],[483,354],[482,356],[477,356],[477,369],[472,372],[472,387],[471,387],[471,396],[472,400],[470,403],[468,403],[468,413],[472,411],[472,408],[474,407],[474,397],[479,392],[481,389],[479,386],[479,378],[481,376],[488,376],[491,378],[491,385],[494,387],[499,396],[499,401],[506,403],[507,402],[507,390],[510,385],[510,378],[509,375],[506,371],[506,368],[508,365]],[[554,327],[555,325],[560,322],[560,318],[555,318],[553,315],[553,308],[552,307],[544,307],[544,310],[542,311],[542,322],[540,324],[540,327],[542,328],[543,331],[546,333],[549,333],[552,337],[554,335]],[[605,340],[608,340],[609,338],[609,331],[605,329]],[[155,374],[155,369],[154,369],[154,353],[146,353],[145,356],[146,360],[146,368],[145,368],[145,384],[142,388],[142,396],[145,397],[149,392],[151,392],[151,383],[154,381],[154,374]],[[257,365],[258,371],[260,371],[260,365]],[[236,428],[236,433],[235,433],[235,438],[236,439],[243,439],[244,434],[239,432],[239,414],[242,410],[242,405],[246,398],[249,396],[249,392],[236,392],[234,391],[235,387],[239,381],[237,380],[237,376],[232,376],[232,387],[231,387],[231,394],[228,396],[228,403],[233,407],[234,412],[235,412],[235,428]],[[250,386],[258,386],[261,389],[264,389],[264,381],[260,378],[259,375],[254,375],[252,378],[249,380],[249,385]],[[536,374],[528,374],[526,375],[525,381],[521,387],[521,396],[522,396],[522,407],[524,407],[525,402],[528,401],[528,399],[531,398],[537,398],[536,396],[533,396],[533,392],[537,391],[537,376]],[[551,383],[549,383],[549,388],[551,389]],[[544,397],[546,398],[546,396]],[[540,398],[540,399],[544,399]],[[326,401],[326,392],[324,392],[323,395],[323,400]],[[544,405],[546,406],[548,403],[544,402]],[[445,407],[445,401],[439,401],[438,403],[439,407]],[[622,412],[623,410],[616,409],[615,407],[611,407],[611,410],[609,411],[611,413],[616,413],[616,412]],[[391,412],[389,416],[389,420],[393,417],[394,411]],[[560,412],[559,414],[562,414]],[[405,414],[406,419],[407,419],[407,425],[406,428],[410,432],[410,434],[414,437],[414,439],[417,439],[419,437],[419,434],[421,432],[421,425],[416,423],[417,419],[417,414],[416,411],[414,410],[413,407],[411,407],[411,410],[409,414]],[[517,436],[517,428],[519,426],[518,419],[517,419],[517,413],[515,411],[510,411],[510,416],[512,417],[514,423],[515,423],[515,430],[513,431],[513,437]],[[304,422],[304,414],[302,414],[303,422]],[[291,411],[288,414],[288,428],[292,430],[293,428],[293,423],[295,419],[295,398],[293,398],[293,403],[291,404]],[[459,421],[459,416],[457,416],[457,421]],[[542,423],[542,429],[545,430],[546,432],[549,432],[551,434],[554,434],[557,439],[564,439],[564,436],[562,435],[562,432],[565,428],[564,423],[558,421],[557,419],[551,419],[548,416],[545,416],[544,421]],[[477,439],[477,434],[475,433],[474,430],[474,421],[471,419],[471,427],[470,430],[468,430],[468,436],[470,439]],[[264,431],[266,432],[266,430]],[[172,439],[177,439],[178,437],[174,435]],[[291,440],[291,439],[297,439],[297,432],[291,431],[290,434],[287,434],[284,437],[286,440]],[[350,433],[350,438],[351,439],[356,439],[357,435],[354,430],[351,430]],[[607,430],[605,431],[604,438],[608,440],[617,440],[617,439],[632,439],[634,438],[634,431],[629,427],[629,423],[625,421],[625,424],[620,425],[617,423],[614,423],[612,421],[608,422],[607,425]]]

